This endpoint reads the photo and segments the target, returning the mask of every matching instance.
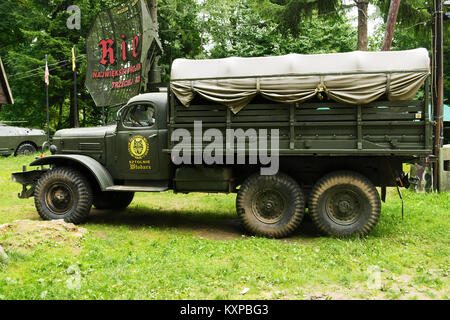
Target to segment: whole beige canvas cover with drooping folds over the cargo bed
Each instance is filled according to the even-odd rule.
[[[406,51],[188,60],[172,64],[171,89],[185,106],[196,95],[234,113],[256,95],[300,103],[325,92],[334,101],[366,104],[382,96],[412,100],[430,73],[424,48]]]

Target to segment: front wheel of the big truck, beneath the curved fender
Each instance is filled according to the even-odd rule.
[[[92,207],[92,188],[80,172],[57,167],[38,180],[34,203],[44,220],[64,219],[66,222],[81,223]]]

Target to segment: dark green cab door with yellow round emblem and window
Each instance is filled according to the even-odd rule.
[[[158,180],[160,146],[156,110],[149,102],[139,102],[122,111],[116,138],[117,179]]]

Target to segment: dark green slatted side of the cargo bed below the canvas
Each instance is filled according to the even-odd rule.
[[[196,104],[185,107],[172,93],[170,95],[169,136],[177,128],[187,129],[194,136],[194,121],[201,121],[203,130],[216,128],[224,137],[226,129],[268,129],[269,132],[279,129],[280,155],[421,156],[432,153],[427,94],[420,101],[376,101],[364,105],[280,104],[259,99],[237,114],[226,106],[206,101],[197,100]],[[203,147],[208,144],[204,142]],[[170,149],[174,146],[169,145]]]

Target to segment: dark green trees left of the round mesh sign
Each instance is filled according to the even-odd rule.
[[[71,49],[78,48],[78,91],[79,109],[86,109],[87,116],[81,122],[86,125],[99,123],[98,110],[88,98],[84,88],[86,53],[85,35],[90,21],[111,1],[81,0],[77,5],[82,11],[81,30],[69,30],[66,26],[69,13],[68,0],[5,0],[1,10],[0,56],[5,63],[8,80],[15,104],[4,106],[0,113],[2,120],[25,120],[26,126],[45,127],[46,103],[44,84],[45,55],[48,54],[50,70],[50,128],[51,131],[69,126],[70,101],[73,101],[73,72]],[[4,22],[5,21],[5,22]],[[11,34],[9,30],[14,30]],[[5,41],[5,42],[3,42]],[[83,112],[80,112],[83,114]]]

